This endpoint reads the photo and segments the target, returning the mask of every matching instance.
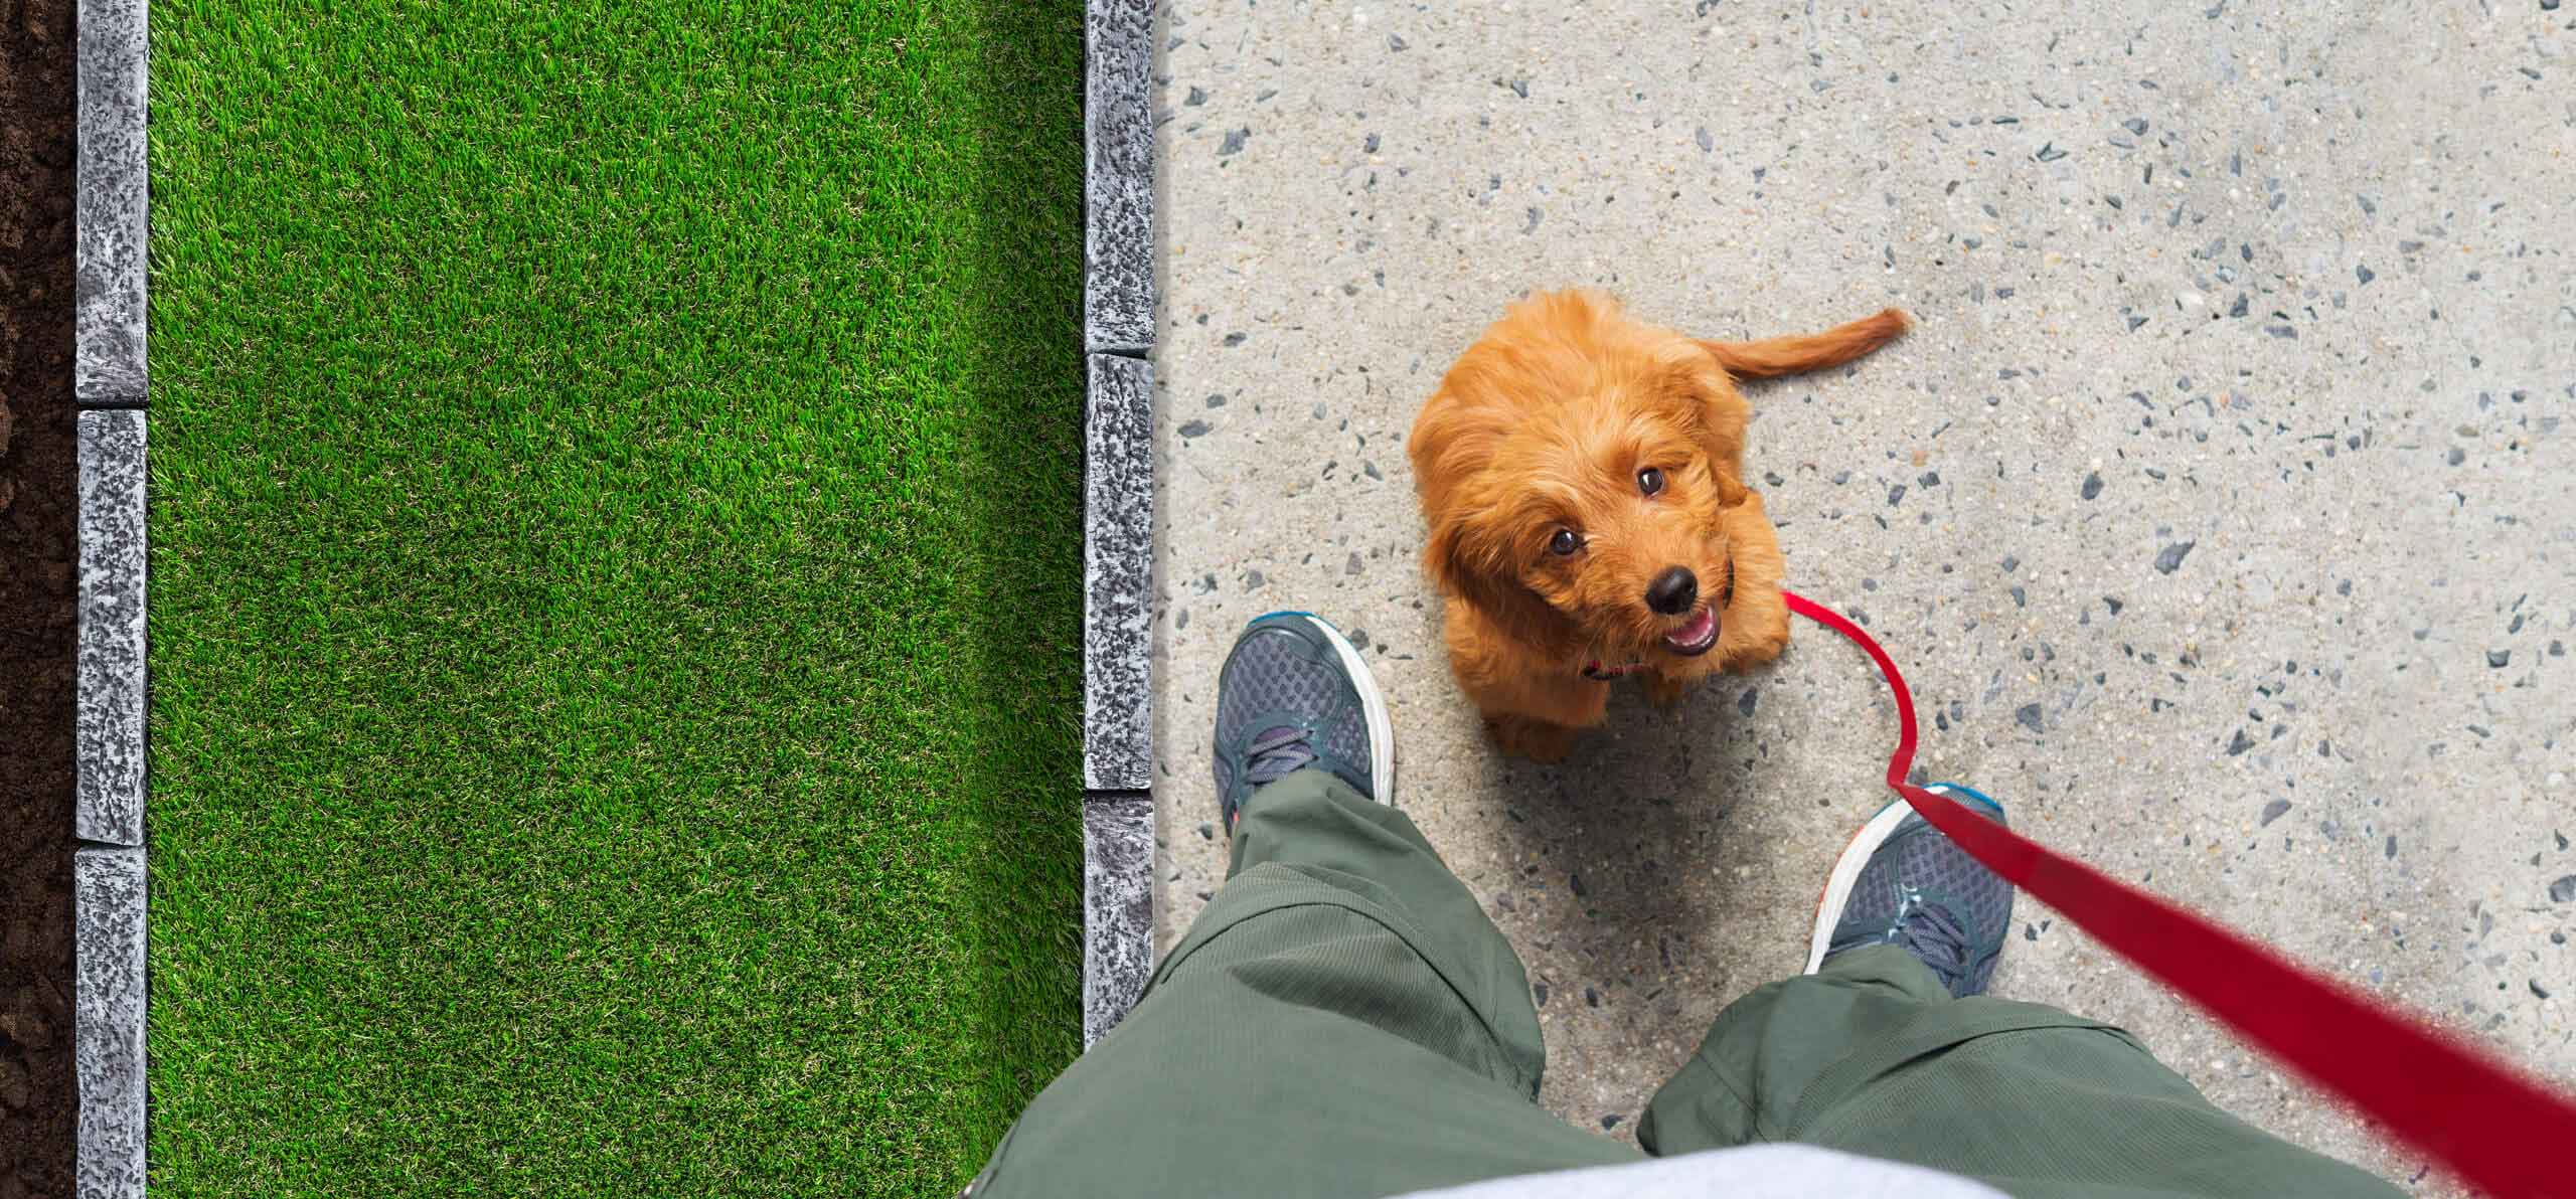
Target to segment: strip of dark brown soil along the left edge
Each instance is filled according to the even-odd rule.
[[[72,1194],[72,0],[0,0],[0,1199]]]

